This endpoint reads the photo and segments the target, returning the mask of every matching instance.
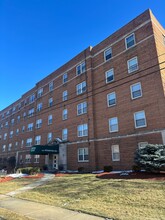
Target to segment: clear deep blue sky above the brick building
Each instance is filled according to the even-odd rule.
[[[76,54],[164,0],[0,0],[0,110]]]

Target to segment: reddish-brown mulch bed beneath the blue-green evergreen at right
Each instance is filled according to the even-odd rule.
[[[132,172],[129,175],[120,173],[100,173],[96,175],[101,179],[143,179],[143,180],[165,180],[165,173]]]

